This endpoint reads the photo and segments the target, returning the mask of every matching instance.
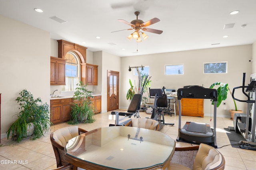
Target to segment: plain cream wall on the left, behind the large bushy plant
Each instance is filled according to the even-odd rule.
[[[16,120],[23,89],[50,105],[50,33],[0,16],[1,138]]]

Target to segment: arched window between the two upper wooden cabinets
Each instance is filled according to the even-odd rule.
[[[80,81],[80,63],[74,52],[68,52],[66,59],[66,86],[62,86],[63,91],[75,91],[76,84]]]

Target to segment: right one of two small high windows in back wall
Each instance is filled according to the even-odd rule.
[[[204,63],[204,73],[227,73],[227,62]]]

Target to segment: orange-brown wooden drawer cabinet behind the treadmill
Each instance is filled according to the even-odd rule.
[[[204,99],[182,98],[181,101],[181,115],[204,117]],[[178,102],[176,102],[178,106]],[[179,111],[177,111],[179,114]]]

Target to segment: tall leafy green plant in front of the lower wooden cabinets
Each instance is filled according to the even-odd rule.
[[[75,100],[81,101],[81,103],[73,103],[68,124],[93,123],[96,120],[93,112],[94,107],[89,100],[90,97],[93,97],[92,91],[88,90],[87,85],[80,81],[79,84],[77,84],[73,97]]]

